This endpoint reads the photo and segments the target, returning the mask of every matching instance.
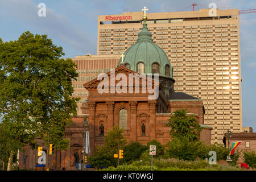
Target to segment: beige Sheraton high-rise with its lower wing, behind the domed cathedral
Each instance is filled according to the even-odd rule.
[[[98,16],[97,55],[72,58],[80,74],[73,81],[74,96],[85,92],[79,96],[85,100],[81,84],[117,67],[121,54],[138,39],[142,16],[143,12]],[[200,9],[147,13],[147,17],[154,43],[174,67],[175,91],[203,100],[204,123],[213,127],[212,143],[222,142],[228,129],[241,132],[239,11],[217,9],[216,16],[209,16],[209,9]]]

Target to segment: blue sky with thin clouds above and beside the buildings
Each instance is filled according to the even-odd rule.
[[[46,5],[46,16],[38,16],[39,3]],[[256,9],[251,0],[0,0],[0,38],[16,40],[25,32],[47,34],[53,44],[63,47],[64,57],[97,54],[97,16],[126,11],[148,13],[192,11],[215,3],[218,9]],[[201,6],[203,5],[203,6]],[[188,7],[188,8],[187,8]],[[256,13],[240,15],[243,127],[256,131]]]

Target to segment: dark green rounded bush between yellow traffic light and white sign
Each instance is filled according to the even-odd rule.
[[[131,141],[125,147],[123,147],[123,160],[125,163],[131,163],[133,160],[139,160],[144,151],[147,150],[147,146],[139,142]]]

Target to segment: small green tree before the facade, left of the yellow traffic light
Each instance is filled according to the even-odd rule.
[[[90,166],[93,167],[109,167],[117,166],[117,159],[114,158],[114,154],[118,154],[118,143],[119,149],[125,147],[127,139],[123,137],[123,129],[119,129],[118,126],[114,126],[113,130],[109,130],[105,135],[104,146],[98,147],[95,154],[88,157]],[[125,154],[125,151],[123,151]],[[123,163],[123,160],[119,160]]]

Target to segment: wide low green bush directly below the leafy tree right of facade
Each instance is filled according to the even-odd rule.
[[[168,142],[166,153],[171,158],[180,160],[204,159],[207,153],[207,147],[201,142],[189,141],[188,138],[174,139]]]

